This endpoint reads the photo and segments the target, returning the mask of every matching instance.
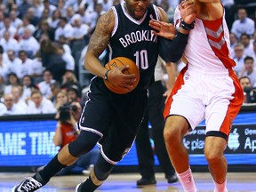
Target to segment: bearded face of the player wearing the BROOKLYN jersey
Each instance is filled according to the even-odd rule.
[[[126,0],[126,10],[136,20],[140,20],[148,10],[150,0]]]

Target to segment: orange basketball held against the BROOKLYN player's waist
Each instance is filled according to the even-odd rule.
[[[109,62],[105,65],[105,68],[111,70],[113,68],[119,68],[122,66],[129,66],[129,68],[126,68],[123,70],[124,74],[135,74],[136,81],[133,83],[134,88],[139,84],[140,81],[140,71],[139,68],[137,68],[136,64],[133,62],[133,60],[130,60],[129,58],[125,57],[116,57],[112,60],[109,60]],[[108,80],[104,80],[104,83],[108,87],[108,89],[111,92],[115,92],[117,94],[125,94],[127,92],[132,92],[132,90],[124,89],[124,87],[115,86],[114,84],[111,84],[108,82]]]

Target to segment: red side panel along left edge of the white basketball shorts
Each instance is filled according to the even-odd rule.
[[[170,109],[172,105],[172,96],[175,95],[181,88],[181,85],[184,84],[184,74],[188,70],[188,64],[186,67],[182,68],[180,71],[179,76],[177,77],[175,84],[173,85],[171,95],[169,96],[168,100],[165,103],[165,108],[164,108],[164,119],[170,115]]]

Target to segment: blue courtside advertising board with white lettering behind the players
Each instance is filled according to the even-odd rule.
[[[28,119],[28,118],[27,118]],[[31,118],[29,118],[31,119]],[[0,166],[41,166],[58,152],[52,138],[55,120],[0,121]],[[191,165],[206,165],[204,158],[204,122],[183,140]],[[152,140],[152,148],[154,141]],[[242,113],[236,117],[225,151],[228,164],[256,165],[256,113]],[[155,156],[156,165],[158,160]],[[117,165],[137,165],[135,145]]]

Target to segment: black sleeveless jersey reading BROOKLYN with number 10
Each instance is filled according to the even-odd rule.
[[[149,20],[158,20],[156,6],[150,4],[148,12],[140,20],[133,19],[124,8],[124,4],[113,7],[115,28],[109,48],[109,60],[127,57],[140,68],[140,83],[137,89],[146,89],[154,76],[158,57],[157,37],[148,26]]]

